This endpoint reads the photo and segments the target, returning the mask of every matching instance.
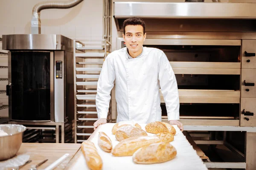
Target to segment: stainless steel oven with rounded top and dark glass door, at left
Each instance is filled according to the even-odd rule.
[[[9,50],[9,119],[72,122],[73,40],[62,35],[3,35],[3,49]]]

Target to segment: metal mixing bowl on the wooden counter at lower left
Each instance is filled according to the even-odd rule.
[[[16,155],[22,144],[23,125],[0,125],[0,130],[8,133],[8,136],[0,136],[0,161],[12,158]]]

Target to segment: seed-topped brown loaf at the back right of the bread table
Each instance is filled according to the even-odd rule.
[[[176,134],[175,128],[166,122],[157,121],[157,122],[148,123],[145,126],[145,130],[148,133],[154,133],[154,134],[161,133],[161,132],[169,132],[169,133],[172,133],[173,135]]]

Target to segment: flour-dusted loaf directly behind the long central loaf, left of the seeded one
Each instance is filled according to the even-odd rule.
[[[148,136],[148,134],[141,128],[136,126],[123,126],[116,131],[116,140],[122,141],[124,139],[135,136]]]

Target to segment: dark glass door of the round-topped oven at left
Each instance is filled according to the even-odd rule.
[[[9,118],[54,121],[54,54],[52,51],[12,51],[9,59]]]

